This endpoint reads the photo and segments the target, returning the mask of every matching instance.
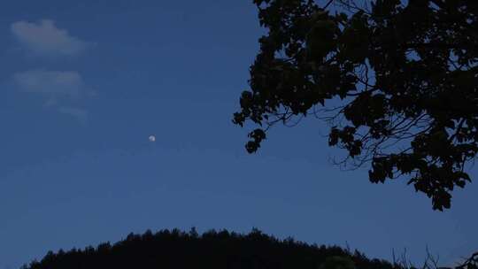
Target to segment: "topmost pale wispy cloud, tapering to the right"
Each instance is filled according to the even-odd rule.
[[[65,29],[59,29],[50,19],[38,23],[17,21],[12,23],[11,30],[19,42],[36,55],[76,55],[90,44],[70,35]]]

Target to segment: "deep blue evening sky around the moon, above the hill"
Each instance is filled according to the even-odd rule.
[[[340,151],[313,119],[246,153],[231,119],[264,34],[251,2],[2,4],[0,269],[174,227],[415,263],[427,247],[442,265],[478,250],[476,183],[432,211],[405,179],[332,165]]]

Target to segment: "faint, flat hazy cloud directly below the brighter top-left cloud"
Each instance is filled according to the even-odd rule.
[[[31,70],[15,73],[13,81],[22,91],[40,93],[50,98],[76,97],[84,88],[81,74],[76,71]]]

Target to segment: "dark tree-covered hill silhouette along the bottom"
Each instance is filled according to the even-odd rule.
[[[331,259],[332,258],[332,259]],[[161,230],[156,234],[129,234],[125,240],[101,243],[96,248],[52,251],[41,261],[33,261],[23,269],[80,268],[328,268],[337,259],[350,261],[360,269],[391,269],[389,262],[369,259],[355,250],[337,246],[318,246],[297,242],[292,238],[279,240],[252,229],[249,234],[227,230],[211,230],[197,234],[178,229]],[[328,261],[328,262],[326,262]],[[340,264],[340,262],[339,262]],[[353,266],[352,266],[353,268]]]

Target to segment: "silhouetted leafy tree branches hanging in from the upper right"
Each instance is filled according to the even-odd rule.
[[[330,125],[340,164],[370,165],[378,183],[405,176],[433,209],[471,182],[478,151],[478,2],[254,0],[268,33],[233,122],[266,132],[315,116]],[[370,8],[368,8],[370,6]]]

